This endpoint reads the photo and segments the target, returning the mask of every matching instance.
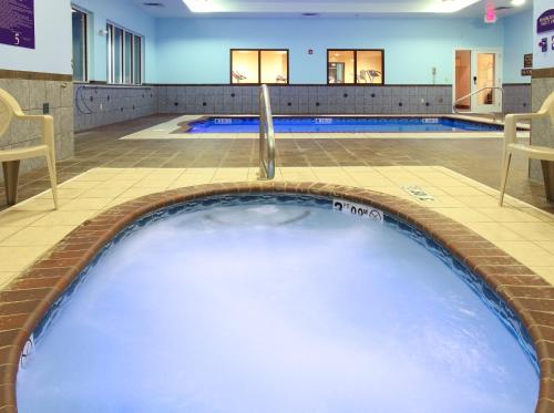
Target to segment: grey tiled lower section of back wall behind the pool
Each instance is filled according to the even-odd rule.
[[[270,86],[275,114],[428,114],[452,112],[450,85]],[[250,114],[258,86],[160,85],[160,113]]]

